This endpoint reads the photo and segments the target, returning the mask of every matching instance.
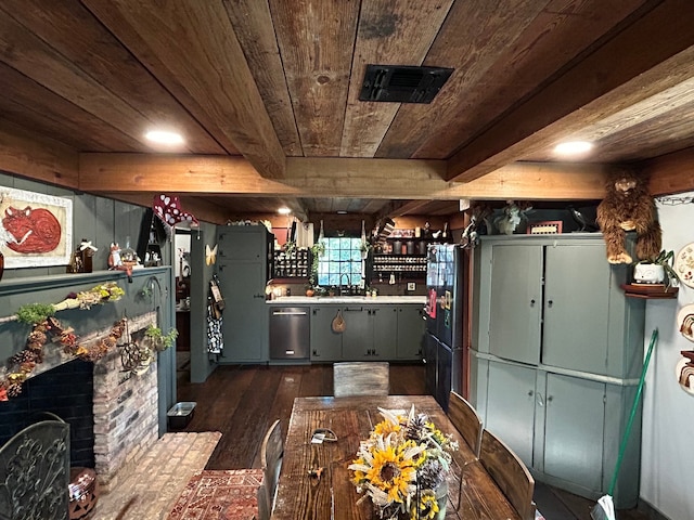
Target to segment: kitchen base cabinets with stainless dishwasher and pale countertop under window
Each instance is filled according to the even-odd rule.
[[[273,322],[291,330],[271,340],[270,362],[420,361],[425,302],[424,296],[286,296],[268,300],[271,336]],[[286,325],[291,317],[295,326]],[[343,332],[334,330],[336,320],[344,321]]]

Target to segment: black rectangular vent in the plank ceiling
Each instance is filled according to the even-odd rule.
[[[367,65],[360,101],[430,103],[452,68]]]

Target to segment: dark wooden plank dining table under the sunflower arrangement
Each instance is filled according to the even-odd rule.
[[[357,458],[359,442],[383,419],[378,407],[407,413],[412,405],[460,445],[453,452],[446,519],[520,520],[430,395],[296,398],[271,519],[377,520],[369,499],[357,504],[361,495],[347,467]],[[336,441],[311,442],[319,429],[334,432]]]

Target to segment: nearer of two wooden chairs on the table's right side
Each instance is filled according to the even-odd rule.
[[[522,520],[535,520],[535,479],[513,450],[485,429],[481,432],[479,459]]]

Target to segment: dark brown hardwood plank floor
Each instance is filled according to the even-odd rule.
[[[184,431],[220,431],[207,469],[259,468],[262,435],[279,418],[286,432],[294,398],[332,395],[332,365],[220,366],[205,384],[189,382],[185,363],[178,373],[178,400],[195,401]],[[391,394],[423,394],[422,365],[390,366]],[[591,520],[594,502],[536,483],[535,500],[547,520]],[[618,520],[647,520],[645,512],[620,510]]]

